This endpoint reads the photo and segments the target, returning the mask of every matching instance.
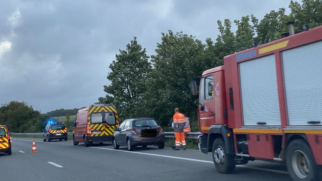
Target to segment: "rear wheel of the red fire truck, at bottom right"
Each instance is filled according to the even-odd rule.
[[[291,141],[285,155],[287,170],[294,181],[320,181],[320,167],[305,141]]]

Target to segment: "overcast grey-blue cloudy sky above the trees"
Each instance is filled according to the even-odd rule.
[[[290,0],[0,0],[0,104],[46,113],[104,97],[110,63],[137,37],[154,55],[161,33],[205,42],[217,20],[286,8]]]

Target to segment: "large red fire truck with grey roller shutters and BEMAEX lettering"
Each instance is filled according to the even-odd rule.
[[[200,150],[216,169],[286,163],[294,180],[317,181],[322,165],[322,26],[224,58],[199,86]],[[196,81],[190,89],[196,95]]]

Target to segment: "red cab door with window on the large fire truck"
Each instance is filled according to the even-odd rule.
[[[207,75],[201,80],[199,92],[201,104],[199,105],[199,126],[203,133],[209,130],[211,123],[215,120],[213,96],[213,75]]]

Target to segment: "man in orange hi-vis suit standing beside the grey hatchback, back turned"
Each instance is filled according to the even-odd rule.
[[[176,147],[173,150],[180,150],[180,145],[185,150],[185,139],[184,139],[184,126],[185,126],[185,117],[184,114],[179,112],[179,108],[174,109],[173,115],[173,128],[174,136],[176,137]]]

